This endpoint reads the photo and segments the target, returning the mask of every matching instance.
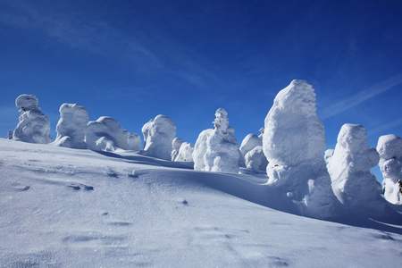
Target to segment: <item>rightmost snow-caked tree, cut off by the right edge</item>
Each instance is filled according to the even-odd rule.
[[[392,204],[402,205],[402,138],[389,134],[378,139],[377,151],[380,154],[380,169],[384,180],[384,197]]]

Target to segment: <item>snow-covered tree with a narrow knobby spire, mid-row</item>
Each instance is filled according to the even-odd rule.
[[[239,172],[241,153],[227,115],[228,113],[222,108],[216,110],[214,130],[204,130],[199,134],[193,153],[195,170]]]

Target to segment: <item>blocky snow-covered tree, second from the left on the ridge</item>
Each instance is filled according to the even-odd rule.
[[[60,120],[56,126],[57,136],[54,145],[86,149],[85,131],[88,125],[88,112],[82,105],[63,104],[60,106]]]

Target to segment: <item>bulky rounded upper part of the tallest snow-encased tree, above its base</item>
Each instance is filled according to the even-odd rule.
[[[275,97],[265,118],[264,154],[272,164],[297,164],[322,158],[326,146],[314,88],[293,80]]]

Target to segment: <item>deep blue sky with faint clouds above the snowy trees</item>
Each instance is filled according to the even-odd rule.
[[[402,136],[401,12],[400,0],[2,0],[0,133],[18,123],[15,98],[34,94],[53,136],[60,105],[79,103],[136,133],[162,113],[195,143],[222,107],[240,143],[300,79],[328,147],[344,123],[375,147]]]

